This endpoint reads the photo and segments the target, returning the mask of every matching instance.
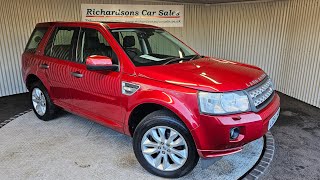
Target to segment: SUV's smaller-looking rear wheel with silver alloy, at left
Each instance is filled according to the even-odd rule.
[[[41,82],[35,82],[31,85],[30,102],[33,112],[39,119],[43,121],[49,121],[55,118],[57,108],[53,104],[46,88],[43,86]],[[37,104],[40,105],[40,107],[42,107],[41,111],[36,110]]]

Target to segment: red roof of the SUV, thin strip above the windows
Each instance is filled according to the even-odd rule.
[[[107,28],[109,29],[124,29],[124,28],[153,28],[153,29],[161,29],[157,26],[147,25],[147,24],[140,24],[140,23],[128,23],[128,22],[106,22],[106,21],[100,21],[100,22],[43,22],[38,23],[37,27],[49,27],[54,25],[64,25],[64,24],[72,24],[74,26],[77,25],[103,25],[105,24]]]

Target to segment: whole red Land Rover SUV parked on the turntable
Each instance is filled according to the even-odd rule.
[[[240,151],[279,115],[263,70],[200,56],[150,25],[39,23],[22,66],[39,119],[62,108],[132,136],[140,164],[162,177]]]

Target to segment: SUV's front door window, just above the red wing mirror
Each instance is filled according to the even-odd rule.
[[[108,56],[113,64],[118,64],[117,56],[107,40],[95,29],[81,29],[81,38],[78,45],[77,61],[85,63],[91,55]]]

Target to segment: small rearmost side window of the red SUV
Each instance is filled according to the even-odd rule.
[[[26,46],[25,52],[35,53],[48,28],[35,28]]]

